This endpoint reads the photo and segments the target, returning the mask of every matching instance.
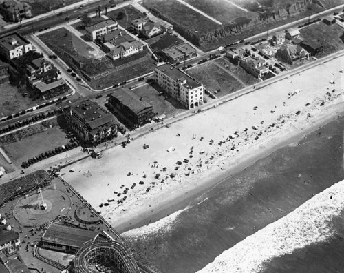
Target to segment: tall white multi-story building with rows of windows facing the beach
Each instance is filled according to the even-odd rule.
[[[155,80],[186,108],[203,104],[204,85],[170,63],[162,63],[155,68]]]

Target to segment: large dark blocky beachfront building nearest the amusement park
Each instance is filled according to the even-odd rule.
[[[69,128],[85,143],[94,145],[117,136],[116,118],[89,99],[67,105],[63,112]]]

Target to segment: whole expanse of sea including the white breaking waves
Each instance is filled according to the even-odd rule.
[[[228,173],[228,179],[184,210],[123,235],[166,273],[197,272],[208,264],[216,265],[213,268],[218,272],[251,272],[250,266],[252,272],[313,272],[307,271],[308,262],[318,262],[323,247],[333,245],[334,252],[336,246],[343,244],[337,242],[342,238],[341,206],[337,203],[333,208],[327,207],[328,204],[321,206],[316,201],[308,204],[306,214],[294,214],[303,215],[297,221],[291,222],[293,217],[283,221],[286,219],[283,217],[310,199],[323,200],[316,194],[344,179],[343,128],[343,118],[336,119],[296,145],[277,150],[239,174]],[[344,200],[344,193],[338,190],[333,201],[340,194]],[[254,239],[261,243],[255,245]],[[297,243],[297,240],[301,241]],[[283,243],[269,245],[269,241]],[[264,243],[261,252],[259,246]],[[244,267],[233,261],[229,264],[224,253],[231,249],[238,255],[246,253],[255,261],[240,265]],[[297,255],[307,259],[303,263]],[[293,261],[299,261],[299,265]],[[343,270],[342,265],[336,263],[334,267]],[[318,272],[329,272],[320,269]]]

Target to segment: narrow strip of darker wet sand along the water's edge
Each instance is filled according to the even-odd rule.
[[[247,158],[245,161],[241,161],[239,163],[236,163],[235,165],[230,166],[228,170],[226,169],[226,172],[222,172],[222,174],[217,175],[214,175],[215,172],[212,172],[211,174],[208,174],[206,178],[202,179],[200,185],[198,185],[198,188],[190,189],[187,196],[176,194],[175,196],[170,197],[169,200],[160,203],[159,210],[156,210],[154,214],[151,214],[151,211],[149,210],[146,210],[145,212],[142,211],[140,214],[140,219],[138,219],[137,216],[133,216],[134,218],[127,219],[127,221],[123,221],[122,223],[116,225],[115,229],[120,234],[122,234],[135,228],[141,228],[142,226],[148,225],[149,223],[154,223],[155,221],[159,221],[160,219],[168,216],[169,214],[172,214],[173,212],[182,210],[186,208],[191,203],[191,201],[199,196],[202,196],[202,194],[213,190],[213,188],[217,187],[217,185],[228,179],[228,177],[235,176],[235,174],[238,174],[239,172],[255,164],[255,162],[257,162],[259,159],[264,159],[266,156],[269,156],[280,148],[299,142],[305,135],[318,130],[324,125],[327,125],[328,123],[334,121],[334,119],[337,119],[338,116],[343,115],[344,110],[342,110],[342,112],[336,111],[335,113],[328,114],[322,119],[314,121],[314,123],[308,128],[303,128],[302,130],[299,129],[299,131],[294,132],[292,136],[289,136],[284,141],[276,141],[276,143],[273,143],[267,150],[259,151],[257,152],[257,154],[254,154],[253,156]]]

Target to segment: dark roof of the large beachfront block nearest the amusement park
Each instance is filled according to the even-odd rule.
[[[102,108],[89,99],[85,101],[76,101],[71,105],[72,111],[80,120],[84,121],[91,130],[96,129],[107,123],[114,123],[114,117],[104,112]]]

